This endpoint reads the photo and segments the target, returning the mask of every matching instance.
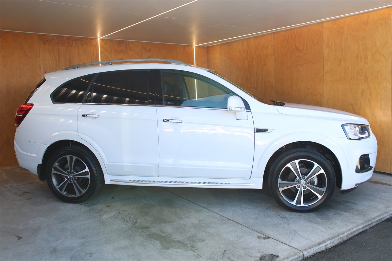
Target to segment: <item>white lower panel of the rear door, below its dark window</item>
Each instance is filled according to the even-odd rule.
[[[83,104],[78,112],[78,133],[102,150],[110,174],[158,176],[155,106]]]

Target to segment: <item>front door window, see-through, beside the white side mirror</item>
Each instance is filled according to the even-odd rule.
[[[227,109],[233,94],[220,83],[189,72],[162,71],[166,105]]]

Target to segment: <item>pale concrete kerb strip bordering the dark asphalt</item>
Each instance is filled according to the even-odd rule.
[[[392,217],[392,210],[389,210],[381,215],[378,215],[366,223],[359,224],[355,226],[354,228],[351,228],[344,232],[343,234],[339,235],[338,237],[330,237],[328,239],[325,239],[321,242],[319,242],[316,246],[307,248],[302,250],[303,252],[303,259],[310,257],[314,254],[317,254],[318,252],[321,252],[323,250],[327,250],[328,248],[331,248],[332,246],[336,246],[339,243],[346,241],[350,237],[355,236],[356,234],[359,234],[360,232],[367,230],[368,228],[373,227],[374,225],[377,225],[378,223],[381,223],[385,219],[388,219]],[[282,259],[282,260],[287,260],[287,261],[298,261],[301,259],[294,259],[294,256],[288,257],[287,259]]]

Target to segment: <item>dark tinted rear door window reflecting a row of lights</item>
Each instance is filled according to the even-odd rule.
[[[116,71],[98,74],[86,103],[151,104],[149,71]],[[152,97],[151,97],[152,98]]]

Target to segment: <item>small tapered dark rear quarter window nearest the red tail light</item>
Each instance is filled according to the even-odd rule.
[[[82,103],[94,74],[86,75],[64,83],[52,92],[52,101],[59,103]]]

